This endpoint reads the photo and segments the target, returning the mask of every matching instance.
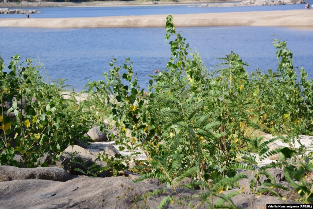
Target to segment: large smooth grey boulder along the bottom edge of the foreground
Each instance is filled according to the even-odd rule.
[[[196,195],[195,191],[186,189],[166,188],[165,193],[146,196],[144,200],[138,197],[146,192],[160,190],[162,187],[144,182],[134,183],[126,177],[95,178],[79,176],[66,182],[50,180],[15,180],[0,182],[0,205],[2,208],[157,208],[164,197],[182,197],[182,203],[188,205],[190,201],[197,205],[200,199],[184,197]],[[227,192],[225,192],[226,194]],[[219,195],[223,195],[219,194]],[[300,204],[294,201],[280,201],[277,197],[240,194],[232,198],[237,208],[265,208],[266,204]],[[254,200],[253,200],[254,199]],[[208,198],[210,200],[210,198]],[[218,197],[213,197],[216,202]],[[252,204],[253,202],[253,204]],[[252,204],[252,207],[251,207]],[[208,208],[205,203],[201,208]],[[174,201],[163,208],[182,208]]]

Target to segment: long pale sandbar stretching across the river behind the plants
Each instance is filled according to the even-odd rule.
[[[269,26],[313,29],[313,10],[174,14],[176,27]],[[137,28],[165,27],[167,15],[85,18],[0,18],[0,27]]]

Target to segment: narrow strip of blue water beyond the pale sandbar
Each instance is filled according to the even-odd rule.
[[[190,7],[196,6],[196,7]],[[128,6],[128,7],[46,7],[18,8],[38,10],[41,13],[30,14],[30,18],[70,18],[70,17],[103,17],[151,14],[197,14],[247,11],[275,11],[303,9],[304,4],[289,4],[279,6],[244,6],[244,7],[197,7],[199,5],[173,6]],[[25,18],[25,14],[0,14],[0,18]]]

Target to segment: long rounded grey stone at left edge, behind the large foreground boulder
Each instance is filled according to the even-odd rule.
[[[0,166],[0,180],[24,180],[24,179],[43,179],[53,181],[67,181],[71,177],[62,168],[37,167],[37,168],[18,168],[14,166]]]

